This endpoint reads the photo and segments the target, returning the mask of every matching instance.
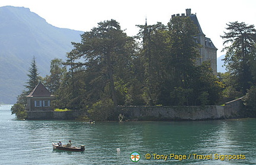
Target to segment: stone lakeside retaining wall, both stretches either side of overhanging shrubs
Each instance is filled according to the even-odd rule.
[[[225,106],[118,106],[124,119],[139,121],[173,121],[238,118],[242,114],[242,98],[225,103]],[[86,111],[30,111],[27,119],[75,119],[87,115]]]

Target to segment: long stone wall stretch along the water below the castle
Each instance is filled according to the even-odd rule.
[[[225,106],[119,106],[126,119],[140,121],[205,120],[239,117],[242,100],[228,102]]]

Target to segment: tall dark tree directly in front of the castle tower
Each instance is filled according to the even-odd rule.
[[[194,40],[198,30],[189,17],[174,17],[168,27],[175,82],[177,86],[187,88],[189,77],[195,70],[196,57],[199,57],[198,44]]]

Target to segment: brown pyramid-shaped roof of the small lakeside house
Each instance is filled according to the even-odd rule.
[[[32,92],[27,95],[28,97],[50,97],[53,96],[50,91],[41,83],[39,82],[37,86],[32,90]]]

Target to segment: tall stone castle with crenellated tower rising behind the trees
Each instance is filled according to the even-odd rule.
[[[206,35],[201,30],[199,21],[197,20],[196,14],[191,14],[191,9],[186,9],[186,14],[174,14],[174,17],[190,17],[199,30],[196,41],[201,45],[199,48],[200,58],[197,59],[196,64],[200,65],[203,62],[210,62],[213,73],[217,75],[217,48],[214,46],[210,38],[205,37]]]

